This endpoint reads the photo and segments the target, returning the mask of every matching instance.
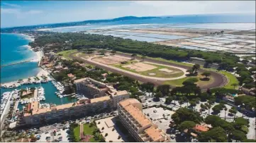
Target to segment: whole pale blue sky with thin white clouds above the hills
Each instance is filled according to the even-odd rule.
[[[206,13],[255,13],[255,1],[3,1],[1,27]]]

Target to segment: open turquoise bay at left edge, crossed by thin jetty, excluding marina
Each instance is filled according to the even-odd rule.
[[[23,35],[1,34],[1,66],[35,58],[35,52],[28,49]],[[37,62],[21,63],[1,68],[1,83],[35,76],[40,68]]]

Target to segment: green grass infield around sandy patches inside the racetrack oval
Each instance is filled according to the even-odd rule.
[[[150,76],[150,77],[167,77],[167,78],[170,78],[170,77],[179,77],[179,76],[182,76],[184,74],[182,72],[182,70],[179,70],[177,68],[170,68],[170,67],[167,67],[167,66],[161,66],[161,65],[151,64],[151,63],[146,63],[146,64],[156,66],[157,68],[154,68],[152,70],[146,70],[146,71],[143,71],[143,72],[138,72],[136,70],[132,70],[132,69],[123,67],[123,66],[131,64],[132,62],[133,63],[138,63],[138,61],[137,62],[129,61],[126,64],[116,64],[116,65],[112,65],[112,66],[114,66],[116,68],[121,68],[122,70],[128,70],[128,71],[133,72],[133,73],[138,73],[140,75],[146,75],[146,76]],[[167,68],[168,70],[174,70],[175,73],[166,73],[164,71],[160,71],[160,69],[162,69],[162,68]],[[150,73],[155,73],[155,75],[149,75]]]

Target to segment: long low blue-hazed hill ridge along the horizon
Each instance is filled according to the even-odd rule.
[[[31,25],[31,26],[21,26],[21,27],[8,27],[1,28],[1,32],[22,32],[27,30],[36,30],[39,28],[52,28],[52,27],[67,27],[67,26],[78,26],[78,25],[87,25],[95,23],[109,23],[117,22],[123,20],[145,20],[145,19],[155,19],[160,17],[155,16],[145,16],[145,17],[136,17],[136,16],[124,16],[120,18],[113,18],[108,20],[84,20],[79,22],[70,22],[70,23],[54,23],[54,24],[45,24],[45,25]]]

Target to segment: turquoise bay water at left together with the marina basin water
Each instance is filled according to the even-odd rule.
[[[30,39],[23,35],[1,34],[1,65],[34,59],[36,54],[28,49],[28,42],[30,42]],[[1,83],[35,76],[39,71],[40,68],[38,68],[38,62],[28,62],[13,66],[6,66],[1,68]],[[45,89],[45,101],[40,101],[40,103],[60,105],[77,101],[77,99],[71,99],[70,97],[63,97],[62,99],[57,97],[55,94],[57,89],[54,87],[54,85],[52,85],[51,82],[43,83],[41,85],[22,85],[17,89],[40,86]],[[4,92],[11,92],[12,90],[13,89],[1,89],[1,94]],[[22,109],[22,105],[19,104],[18,108]]]

